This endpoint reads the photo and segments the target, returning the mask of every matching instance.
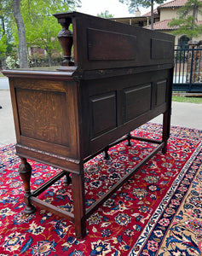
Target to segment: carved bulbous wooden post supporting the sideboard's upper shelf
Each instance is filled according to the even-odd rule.
[[[61,62],[61,66],[58,69],[59,70],[64,70],[65,67],[73,66],[74,63],[71,61],[72,55],[72,44],[73,44],[73,36],[72,36],[72,31],[69,30],[69,25],[70,21],[66,21],[64,23],[61,23],[62,29],[58,33],[58,40],[61,44],[61,48],[63,50],[63,57],[64,61]]]

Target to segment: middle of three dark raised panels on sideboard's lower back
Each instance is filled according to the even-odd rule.
[[[150,110],[151,93],[151,84],[124,90],[124,123]]]

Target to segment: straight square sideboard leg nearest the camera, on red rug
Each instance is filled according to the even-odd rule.
[[[77,238],[86,236],[84,174],[72,173],[74,225]]]

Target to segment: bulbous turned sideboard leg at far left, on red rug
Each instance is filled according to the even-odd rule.
[[[24,212],[32,213],[32,212],[35,212],[36,210],[36,208],[29,201],[29,196],[31,195],[30,179],[32,175],[32,166],[26,161],[26,158],[20,158],[20,159],[21,159],[21,164],[19,166],[18,172],[20,174],[20,177],[24,184],[24,189],[25,189],[24,201],[26,203],[26,207],[24,209]]]

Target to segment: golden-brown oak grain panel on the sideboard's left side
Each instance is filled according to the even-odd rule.
[[[20,135],[43,142],[68,145],[66,93],[16,89]]]

